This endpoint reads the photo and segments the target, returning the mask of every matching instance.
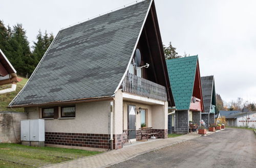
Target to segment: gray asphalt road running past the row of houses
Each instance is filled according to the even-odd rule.
[[[112,167],[256,167],[256,135],[251,130],[226,128]]]

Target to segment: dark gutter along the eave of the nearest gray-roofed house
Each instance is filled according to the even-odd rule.
[[[113,96],[102,96],[102,97],[63,100],[63,101],[54,101],[54,102],[46,102],[46,103],[22,104],[22,105],[11,105],[11,106],[9,105],[8,108],[47,106],[47,105],[58,105],[58,104],[74,104],[74,103],[106,101],[106,100],[114,100],[114,97]]]

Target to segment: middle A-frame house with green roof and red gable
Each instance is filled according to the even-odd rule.
[[[200,125],[204,113],[198,55],[166,60],[175,105],[175,132],[188,133],[189,121]]]

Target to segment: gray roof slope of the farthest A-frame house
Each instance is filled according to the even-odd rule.
[[[204,100],[204,110],[206,113],[210,112],[211,96],[212,96],[212,85],[214,84],[214,76],[203,76],[201,77],[201,85]]]

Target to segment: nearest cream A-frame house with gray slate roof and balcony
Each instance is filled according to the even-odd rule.
[[[141,127],[166,138],[175,104],[154,1],[61,30],[9,106],[45,119],[47,146],[119,149]]]

